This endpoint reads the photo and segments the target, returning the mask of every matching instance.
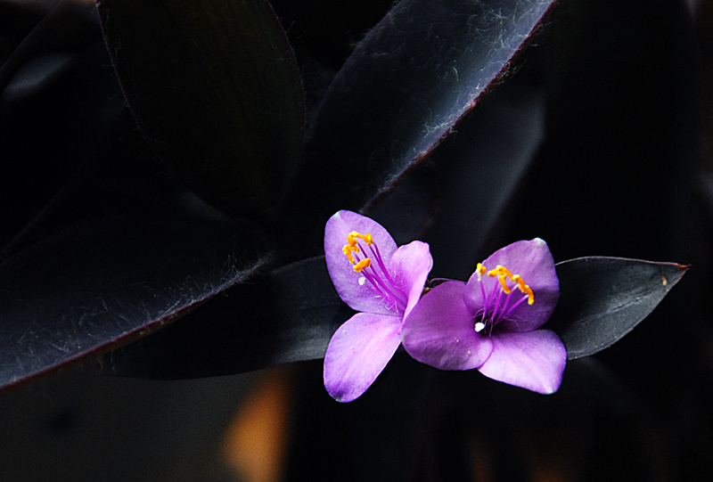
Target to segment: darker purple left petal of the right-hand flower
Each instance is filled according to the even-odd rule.
[[[493,343],[475,331],[464,288],[464,282],[444,282],[416,304],[401,329],[409,355],[441,370],[471,370],[488,359]]]

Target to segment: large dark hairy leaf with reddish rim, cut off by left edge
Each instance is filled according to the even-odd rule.
[[[264,263],[233,222],[126,216],[82,225],[0,265],[0,388],[173,322]]]

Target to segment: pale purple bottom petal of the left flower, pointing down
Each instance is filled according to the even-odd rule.
[[[401,317],[357,313],[342,324],[324,355],[324,388],[338,402],[351,402],[389,363],[401,338]]]

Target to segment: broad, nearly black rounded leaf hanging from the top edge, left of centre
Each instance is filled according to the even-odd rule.
[[[100,0],[119,82],[143,135],[193,190],[264,212],[302,141],[299,73],[263,0]]]

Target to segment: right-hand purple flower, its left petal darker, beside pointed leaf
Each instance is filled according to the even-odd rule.
[[[560,297],[545,241],[517,241],[479,264],[467,283],[430,290],[406,318],[406,352],[441,370],[471,370],[539,393],[560,388],[567,351],[540,327]]]

